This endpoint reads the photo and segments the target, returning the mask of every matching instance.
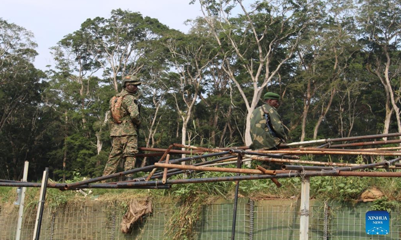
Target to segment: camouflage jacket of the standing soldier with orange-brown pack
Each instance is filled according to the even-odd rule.
[[[133,94],[123,89],[116,96],[125,95],[121,102],[121,123],[114,122],[110,117],[110,136],[137,135],[137,125],[140,124],[138,102]],[[110,99],[110,116],[112,102]]]

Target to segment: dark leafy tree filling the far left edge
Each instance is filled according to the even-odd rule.
[[[0,174],[6,179],[20,180],[24,161],[35,165],[35,157],[43,154],[38,146],[46,129],[41,108],[45,75],[33,65],[33,37],[0,18]]]

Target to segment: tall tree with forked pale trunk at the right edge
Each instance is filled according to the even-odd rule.
[[[398,0],[360,0],[359,4],[366,69],[380,80],[386,94],[383,133],[389,131],[392,113],[401,131],[401,5]]]

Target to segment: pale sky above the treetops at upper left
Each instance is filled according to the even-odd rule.
[[[97,16],[108,18],[112,9],[140,12],[157,18],[170,28],[187,32],[187,19],[202,15],[198,3],[190,0],[2,0],[0,17],[34,33],[38,43],[35,66],[45,70],[53,65],[49,48],[65,35],[78,30],[81,23]]]

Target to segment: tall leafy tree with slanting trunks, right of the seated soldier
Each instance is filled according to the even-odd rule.
[[[304,102],[301,141],[306,137],[307,122],[314,123],[313,136],[309,137],[316,139],[339,84],[345,78],[344,71],[358,49],[352,30],[352,1],[331,1],[326,7],[325,17],[308,29],[307,37],[297,48],[299,72],[292,84],[304,85],[300,91]],[[308,118],[311,110],[316,120]]]

